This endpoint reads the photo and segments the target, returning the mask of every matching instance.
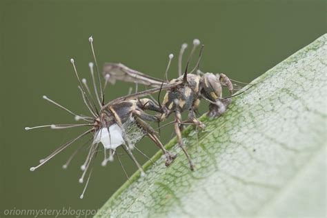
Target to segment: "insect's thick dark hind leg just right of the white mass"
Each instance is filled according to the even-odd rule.
[[[145,113],[144,113],[145,114]],[[146,114],[145,114],[146,115]],[[147,116],[151,116],[151,115],[147,115]],[[146,123],[145,121],[143,121],[141,119],[142,115],[137,115],[135,114],[135,120],[137,122],[137,124],[139,126],[141,126],[141,128],[143,128],[143,130],[146,130],[148,137],[155,142],[155,144],[164,152],[165,156],[166,156],[166,166],[169,166],[172,161],[174,161],[174,159],[177,157],[177,155],[172,155],[170,154],[170,152],[168,152],[163,144],[161,143],[161,141],[158,139],[158,137],[155,135],[155,130],[152,128],[152,126],[150,126],[148,123]],[[143,118],[148,118],[148,117],[144,117]]]

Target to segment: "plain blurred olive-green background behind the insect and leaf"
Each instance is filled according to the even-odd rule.
[[[3,210],[14,208],[97,209],[126,181],[117,160],[100,166],[100,154],[86,195],[79,199],[79,166],[86,150],[67,170],[61,166],[86,139],[38,170],[29,170],[82,131],[23,128],[74,122],[42,95],[86,113],[69,59],[74,57],[81,77],[90,81],[90,35],[100,68],[106,61],[121,62],[163,77],[168,54],[177,57],[181,43],[198,38],[205,44],[203,71],[250,82],[326,32],[326,1],[2,0],[0,8],[0,217]],[[177,75],[176,62],[170,78]],[[126,95],[128,87],[110,86],[107,99]],[[204,112],[202,107],[200,113]],[[168,142],[171,132],[166,128],[161,141]],[[157,151],[148,139],[138,146],[150,156]],[[136,167],[126,155],[121,158],[132,175]],[[137,158],[146,161],[141,155]]]

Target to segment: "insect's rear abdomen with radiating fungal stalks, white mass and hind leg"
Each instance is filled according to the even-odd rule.
[[[47,161],[52,159],[59,152],[65,150],[72,143],[75,143],[77,140],[85,137],[86,135],[92,135],[90,148],[88,150],[88,155],[86,157],[85,162],[81,165],[81,170],[83,170],[83,174],[79,179],[79,183],[84,182],[84,177],[86,176],[86,172],[88,173],[88,179],[86,180],[85,188],[82,192],[81,198],[83,198],[86,187],[88,186],[88,181],[90,180],[90,176],[92,174],[92,163],[99,152],[99,144],[102,143],[104,150],[104,159],[102,161],[102,166],[106,166],[108,161],[113,161],[114,155],[116,155],[119,160],[119,164],[122,163],[119,159],[119,155],[116,152],[116,149],[121,146],[123,150],[131,157],[132,161],[135,162],[139,170],[141,171],[141,175],[144,175],[143,169],[135,156],[132,154],[132,150],[135,148],[139,152],[141,152],[136,146],[137,143],[143,136],[148,136],[165,154],[166,156],[166,166],[169,166],[172,161],[175,159],[176,155],[170,154],[161,141],[159,141],[155,130],[147,123],[147,121],[157,121],[157,117],[155,115],[148,115],[144,110],[152,110],[156,112],[161,112],[161,108],[152,101],[152,99],[147,99],[141,97],[145,97],[155,92],[159,92],[162,89],[170,88],[172,85],[167,84],[161,88],[152,88],[150,90],[146,90],[143,92],[136,92],[135,94],[119,97],[109,103],[104,103],[104,90],[106,89],[108,83],[108,75],[106,76],[106,82],[102,88],[101,80],[99,75],[99,68],[97,66],[97,59],[95,57],[95,50],[93,48],[93,39],[89,38],[90,47],[92,50],[92,56],[95,61],[95,67],[97,69],[97,76],[95,76],[93,67],[94,64],[90,63],[90,72],[92,76],[92,83],[95,92],[95,99],[93,99],[90,87],[86,83],[86,79],[80,79],[79,74],[77,72],[77,68],[75,66],[74,59],[70,59],[70,63],[72,63],[72,67],[75,72],[75,76],[77,77],[77,81],[79,83],[79,90],[81,91],[81,95],[83,97],[83,102],[86,105],[90,112],[90,116],[86,115],[77,115],[75,112],[72,112],[68,108],[61,106],[61,104],[57,103],[49,99],[46,96],[43,96],[43,99],[46,99],[50,103],[58,106],[59,108],[66,110],[71,115],[75,116],[76,121],[83,121],[84,123],[76,123],[76,124],[51,124],[51,125],[43,125],[43,126],[35,126],[35,127],[26,127],[26,130],[32,130],[35,128],[46,128],[50,127],[52,129],[66,129],[66,128],[76,128],[81,126],[89,126],[90,129],[86,132],[83,132],[81,135],[77,136],[75,139],[71,139],[70,141],[63,143],[59,148],[54,150],[48,157],[41,159],[39,165],[33,166],[30,168],[30,171],[34,171],[43,164],[46,164]],[[97,79],[95,78],[97,77]],[[99,87],[98,87],[98,86]],[[175,86],[175,84],[173,85]],[[76,153],[80,150],[77,149],[72,154],[72,156],[68,159],[66,164],[63,165],[63,168],[68,168],[68,165],[72,158],[76,155]],[[109,154],[108,154],[109,153]],[[141,152],[143,154],[143,152]],[[143,154],[144,155],[144,154]],[[123,166],[122,166],[123,168]],[[90,170],[89,170],[90,169]],[[126,174],[126,171],[123,169]],[[126,174],[127,176],[127,174]]]

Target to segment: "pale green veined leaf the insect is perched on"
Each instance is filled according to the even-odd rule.
[[[206,130],[184,132],[196,169],[161,152],[96,217],[325,217],[326,41],[320,37],[252,81]]]

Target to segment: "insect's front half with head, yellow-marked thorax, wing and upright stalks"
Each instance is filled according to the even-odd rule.
[[[206,99],[209,101],[209,111],[208,115],[210,117],[220,116],[222,113],[226,111],[229,103],[231,102],[231,97],[236,95],[232,95],[234,91],[234,86],[232,81],[224,74],[213,74],[211,72],[203,73],[199,70],[199,63],[201,61],[201,55],[204,49],[204,46],[201,46],[199,52],[199,58],[195,67],[188,72],[188,65],[192,58],[192,55],[195,52],[197,46],[199,46],[200,41],[195,39],[193,41],[192,50],[188,56],[188,61],[186,63],[186,69],[184,70],[184,74],[182,75],[182,59],[184,51],[187,48],[187,44],[184,43],[181,46],[181,50],[179,52],[178,59],[178,73],[179,77],[177,79],[168,80],[167,72],[170,66],[170,61],[173,58],[173,54],[169,55],[169,63],[168,68],[166,70],[166,80],[157,79],[154,77],[150,77],[142,72],[138,72],[137,70],[132,70],[121,63],[106,63],[103,67],[103,76],[108,77],[111,83],[115,83],[116,80],[127,81],[140,83],[146,86],[152,87],[163,87],[170,85],[171,88],[166,89],[166,94],[164,96],[164,100],[162,103],[159,103],[161,108],[161,114],[158,115],[159,121],[164,121],[169,115],[175,113],[175,122],[174,128],[175,133],[177,135],[177,141],[181,149],[184,151],[188,162],[190,164],[190,169],[194,170],[194,165],[192,160],[190,159],[190,155],[184,146],[184,143],[181,138],[181,124],[185,123],[181,121],[181,113],[184,111],[188,111],[188,121],[186,123],[195,125],[201,129],[205,128],[204,123],[199,121],[195,115],[195,111],[199,107],[199,103],[201,99]],[[197,74],[192,74],[193,72],[197,72]],[[230,92],[230,97],[223,98],[222,97],[222,87],[225,86],[228,88]],[[239,94],[238,94],[239,95]]]

